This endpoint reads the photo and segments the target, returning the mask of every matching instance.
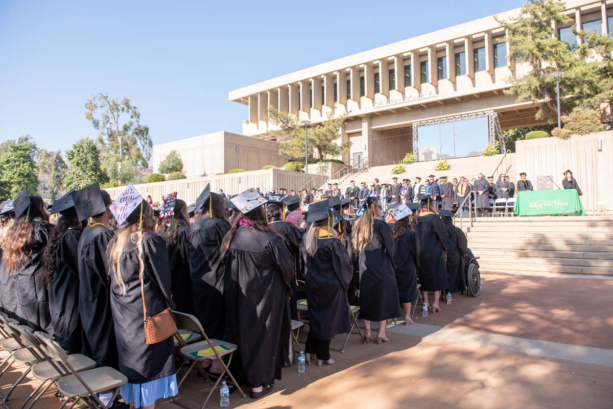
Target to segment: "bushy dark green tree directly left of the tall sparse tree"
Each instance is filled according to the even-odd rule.
[[[76,184],[85,187],[96,182],[102,184],[107,181],[108,176],[100,163],[100,151],[93,140],[83,138],[77,141],[72,145],[72,149],[66,151],[66,159],[69,167],[66,178],[64,178],[66,189]]]

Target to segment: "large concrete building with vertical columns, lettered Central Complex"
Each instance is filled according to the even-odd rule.
[[[573,24],[601,34],[613,30],[611,0],[568,0],[566,6],[571,21],[554,23],[554,31],[571,47],[577,43]],[[251,84],[229,92],[229,99],[248,107],[243,133],[264,140],[275,140],[269,105],[312,124],[332,108],[348,112],[338,141],[352,146],[339,159],[354,166],[387,165],[406,152],[419,160],[473,156],[501,129],[547,123],[535,118],[541,101],[516,102],[503,94],[509,78],[528,70],[507,58],[508,49],[504,30],[490,16]],[[481,136],[459,136],[454,129],[451,136],[419,137],[424,126],[471,118],[484,118]],[[456,145],[472,148],[455,152]]]

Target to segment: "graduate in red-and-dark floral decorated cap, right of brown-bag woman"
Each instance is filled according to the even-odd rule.
[[[177,311],[194,315],[194,293],[189,269],[189,216],[185,201],[174,195],[176,192],[168,195],[162,204],[159,217],[163,223],[159,234],[166,242],[172,301]],[[168,213],[170,211],[172,214]]]

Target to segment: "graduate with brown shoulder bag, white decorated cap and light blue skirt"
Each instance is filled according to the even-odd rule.
[[[120,227],[107,255],[119,370],[128,378],[121,397],[133,408],[153,409],[156,400],[178,393],[174,339],[148,344],[143,322],[175,308],[166,242],[154,232],[153,208],[132,184],[109,209]]]

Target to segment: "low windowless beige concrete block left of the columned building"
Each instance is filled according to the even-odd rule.
[[[153,146],[153,171],[168,152],[175,150],[183,159],[186,176],[226,173],[230,169],[260,170],[267,165],[282,167],[287,158],[279,155],[279,144],[231,132],[215,132]]]

